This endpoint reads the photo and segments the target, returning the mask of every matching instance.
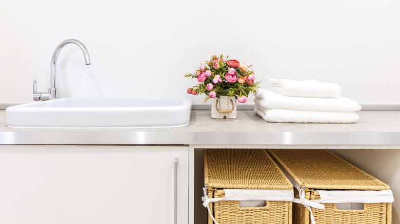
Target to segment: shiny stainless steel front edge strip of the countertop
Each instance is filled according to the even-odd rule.
[[[400,132],[3,131],[3,145],[400,145]]]

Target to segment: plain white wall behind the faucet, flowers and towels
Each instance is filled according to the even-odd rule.
[[[1,0],[0,103],[47,91],[58,58],[60,97],[189,97],[184,78],[213,54],[254,65],[257,80],[317,79],[360,104],[400,104],[400,1]],[[253,103],[249,100],[249,103]]]

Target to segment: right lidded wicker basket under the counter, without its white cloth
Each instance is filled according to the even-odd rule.
[[[295,198],[299,198],[299,191],[303,189],[307,200],[321,200],[323,192],[353,194],[365,193],[365,190],[374,190],[373,193],[377,190],[387,190],[386,192],[391,194],[388,185],[325,149],[268,149],[268,151],[293,178],[294,185],[298,184],[299,189],[294,190]],[[391,203],[364,203],[364,207],[361,207],[364,209],[358,210],[337,209],[336,203],[323,203],[323,205],[325,205],[324,210],[311,207],[312,213],[310,213],[304,205],[294,203],[293,223],[308,224],[312,216],[317,224],[391,223]]]

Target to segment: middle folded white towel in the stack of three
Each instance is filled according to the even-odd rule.
[[[346,97],[314,98],[314,97],[287,97],[268,89],[259,89],[255,93],[254,103],[265,108],[282,108],[296,110],[357,111],[361,106],[357,102]]]

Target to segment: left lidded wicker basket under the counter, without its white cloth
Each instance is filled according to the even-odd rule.
[[[208,198],[222,198],[227,189],[278,189],[292,196],[293,185],[263,149],[205,149],[204,172]],[[209,203],[209,212],[219,224],[292,223],[292,201],[240,207],[237,200],[221,200]]]

